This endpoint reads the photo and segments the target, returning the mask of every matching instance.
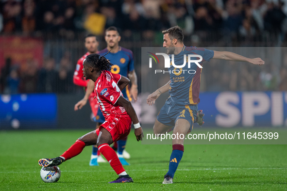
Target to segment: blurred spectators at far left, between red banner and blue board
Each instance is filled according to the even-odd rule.
[[[84,92],[73,84],[73,72],[69,52],[59,64],[53,58],[46,58],[42,68],[34,60],[12,65],[8,58],[0,72],[0,94]]]

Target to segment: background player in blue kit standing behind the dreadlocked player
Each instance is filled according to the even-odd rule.
[[[105,55],[110,49],[111,52],[107,54],[106,59],[110,60],[114,65],[112,66],[111,72],[113,74],[120,74],[122,76],[128,77],[131,80],[131,91],[126,87],[122,90],[123,96],[132,101],[132,97],[134,100],[137,100],[137,77],[135,74],[134,67],[134,55],[133,52],[129,49],[122,48],[118,46],[118,42],[120,41],[120,35],[118,29],[116,27],[109,27],[105,31],[105,41],[107,43],[107,48],[101,50],[99,52],[100,55]],[[96,116],[96,122],[98,122],[98,126],[105,121],[101,110],[98,111],[98,115]],[[129,163],[124,159],[123,152],[126,155],[125,158],[129,158],[129,154],[124,150],[126,145],[127,138],[119,140],[114,143],[114,146],[117,146],[118,158],[123,165],[129,165]],[[98,148],[93,146],[93,152],[91,156],[90,165],[97,165],[97,151]],[[99,161],[98,161],[99,162]]]

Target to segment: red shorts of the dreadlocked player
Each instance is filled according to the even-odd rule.
[[[132,125],[132,119],[130,117],[123,117],[121,115],[109,115],[103,124],[96,129],[97,135],[101,131],[101,128],[107,129],[113,138],[113,141],[116,142],[120,139],[125,138],[130,134]]]

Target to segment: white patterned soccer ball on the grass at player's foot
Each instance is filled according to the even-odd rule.
[[[43,167],[40,175],[44,182],[57,182],[61,177],[61,170],[58,166]]]

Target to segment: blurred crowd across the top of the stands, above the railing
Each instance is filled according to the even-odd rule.
[[[75,31],[101,35],[116,26],[126,35],[179,25],[185,35],[219,32],[240,40],[260,40],[263,32],[286,33],[287,0],[1,0],[0,32]]]

